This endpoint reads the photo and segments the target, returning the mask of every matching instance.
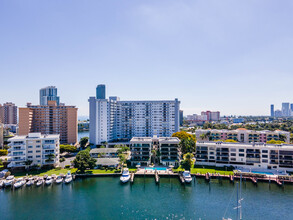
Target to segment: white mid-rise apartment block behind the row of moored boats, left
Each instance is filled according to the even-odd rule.
[[[8,141],[10,168],[25,167],[26,161],[32,161],[31,165],[59,165],[59,134],[29,133],[27,136],[15,136]]]

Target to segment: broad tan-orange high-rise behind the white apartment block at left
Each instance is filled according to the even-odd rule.
[[[28,103],[26,108],[19,108],[19,135],[31,132],[59,134],[60,143],[75,144],[77,108],[57,105],[56,101],[48,101],[48,105]]]

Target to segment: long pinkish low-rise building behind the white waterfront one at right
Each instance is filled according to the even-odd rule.
[[[205,134],[202,137],[202,134]],[[217,130],[217,129],[198,129],[195,131],[196,139],[203,141],[228,140],[232,139],[242,143],[261,142],[266,143],[270,140],[282,140],[290,143],[290,132],[287,131],[253,131],[245,128],[236,130]]]

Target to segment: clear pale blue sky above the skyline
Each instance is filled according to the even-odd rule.
[[[184,114],[268,115],[293,102],[293,1],[0,1],[0,103],[88,115],[97,84],[122,100],[179,98]]]

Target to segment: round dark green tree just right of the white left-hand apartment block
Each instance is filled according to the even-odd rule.
[[[84,173],[86,169],[93,169],[96,166],[96,161],[96,159],[90,156],[88,150],[83,150],[78,152],[76,158],[73,160],[73,165],[75,168]]]

